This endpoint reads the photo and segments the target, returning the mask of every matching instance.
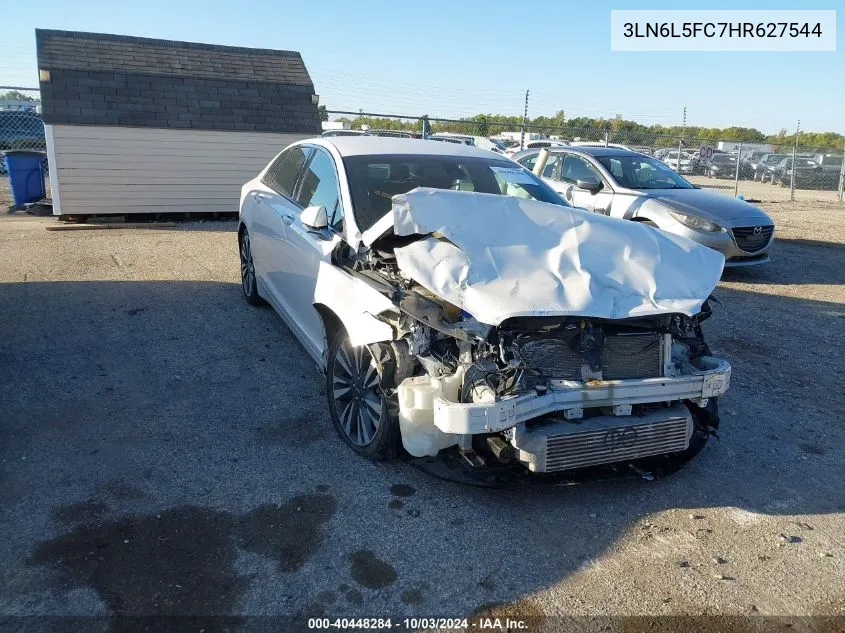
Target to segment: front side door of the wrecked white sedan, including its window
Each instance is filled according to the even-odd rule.
[[[320,262],[328,259],[343,233],[344,209],[340,196],[337,165],[322,147],[314,147],[302,170],[292,199],[292,213],[285,219],[287,230],[280,236],[277,292],[303,343],[319,353],[323,344],[323,323],[314,308],[314,289]],[[314,230],[305,226],[300,213],[306,207],[326,209],[329,226]]]

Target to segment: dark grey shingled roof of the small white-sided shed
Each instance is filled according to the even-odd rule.
[[[36,30],[45,123],[317,133],[295,51]]]

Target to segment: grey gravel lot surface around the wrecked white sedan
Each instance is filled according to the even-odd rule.
[[[727,273],[706,324],[720,441],[662,480],[516,490],[336,439],[240,296],[233,222],[0,217],[0,615],[845,617],[845,209],[769,210],[773,263]]]

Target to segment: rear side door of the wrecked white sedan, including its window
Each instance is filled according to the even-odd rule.
[[[300,175],[311,155],[311,147],[297,145],[282,152],[267,170],[261,186],[247,194],[251,222],[250,238],[256,277],[261,294],[283,317],[292,317],[291,306],[282,292],[282,271],[295,257],[285,244],[292,218],[299,214],[293,199]]]

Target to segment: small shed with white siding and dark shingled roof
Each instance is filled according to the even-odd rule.
[[[243,183],[320,133],[297,52],[35,37],[55,215],[236,212]]]

